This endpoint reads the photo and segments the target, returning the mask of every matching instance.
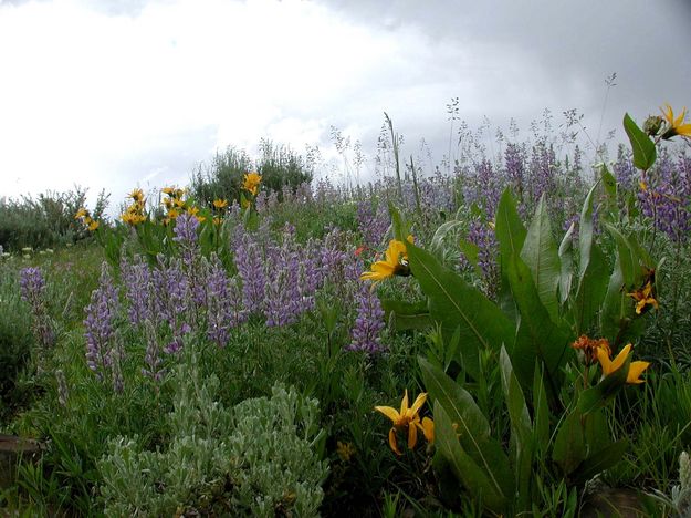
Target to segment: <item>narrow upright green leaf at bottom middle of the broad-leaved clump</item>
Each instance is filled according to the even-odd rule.
[[[506,406],[509,407],[509,418],[511,419],[513,466],[519,500],[516,510],[526,510],[531,504],[531,481],[533,480],[531,476],[535,452],[533,424],[531,423],[523,391],[513,373],[511,360],[505,348],[502,348],[499,361],[502,374],[502,388]]]

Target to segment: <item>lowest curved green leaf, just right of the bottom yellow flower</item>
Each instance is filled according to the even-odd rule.
[[[502,487],[492,469],[479,466],[463,450],[453,422],[439,402],[435,402],[435,444],[473,498],[482,498],[484,506],[496,514],[505,510],[511,493]]]

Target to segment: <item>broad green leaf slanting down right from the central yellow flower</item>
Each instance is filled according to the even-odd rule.
[[[433,320],[441,323],[444,339],[460,330],[460,354],[465,371],[480,373],[478,351],[513,343],[513,324],[502,311],[457,273],[443,268],[429,252],[408,245],[415,278],[429,299]]]

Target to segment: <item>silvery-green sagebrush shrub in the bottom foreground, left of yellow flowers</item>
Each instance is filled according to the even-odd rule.
[[[271,398],[227,410],[216,376],[181,366],[177,377],[167,447],[121,436],[98,463],[106,516],[317,515],[328,468],[313,448],[316,400],[278,384]]]

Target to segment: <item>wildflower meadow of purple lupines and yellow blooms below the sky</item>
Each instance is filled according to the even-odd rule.
[[[596,164],[545,126],[423,170],[387,116],[367,185],[342,138],[342,184],[264,143],[117,218],[0,200],[0,432],[40,445],[0,511],[690,516],[684,114]]]

